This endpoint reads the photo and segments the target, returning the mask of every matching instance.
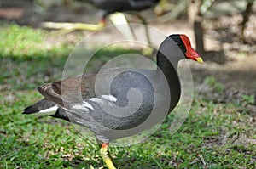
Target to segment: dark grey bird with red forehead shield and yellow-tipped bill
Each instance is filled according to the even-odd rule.
[[[172,112],[177,106],[182,90],[177,73],[179,60],[192,59],[203,63],[201,56],[191,47],[189,37],[184,34],[172,34],[166,37],[161,42],[156,57],[157,67],[154,70],[115,67],[102,72],[86,72],[41,85],[38,87],[38,92],[44,96],[44,99],[26,107],[23,114],[50,115],[89,128],[95,133],[98,143],[102,144],[100,154],[103,161],[109,169],[115,169],[116,166],[108,151],[109,143],[147,130],[148,126],[139,130],[132,129],[143,125],[148,115],[151,115],[153,110],[161,109],[162,104],[166,104],[163,118]],[[109,80],[106,79],[107,76],[114,76],[108,93],[103,90]],[[102,80],[101,85],[98,86],[100,88],[96,86],[98,78]],[[138,89],[141,96],[129,95],[131,88]],[[79,93],[81,98],[78,99]],[[165,94],[169,94],[171,99],[166,99]],[[137,98],[142,101],[135,113],[126,115],[127,111],[119,112],[123,110],[119,108],[124,108],[132,102],[137,103]],[[158,104],[154,103],[155,98],[160,99]],[[108,114],[102,106],[107,106],[113,114],[117,112],[120,114]],[[160,121],[155,123],[153,121],[152,125],[158,122]]]

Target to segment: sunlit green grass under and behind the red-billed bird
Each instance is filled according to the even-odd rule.
[[[64,42],[45,49],[46,31],[18,25],[3,25],[1,30],[6,41],[0,43],[0,168],[104,166],[98,145],[79,137],[66,121],[21,115],[26,106],[42,99],[38,85],[61,78],[72,45]],[[14,48],[17,43],[20,47]],[[120,52],[99,55],[107,57],[101,58],[104,61]],[[210,87],[218,84],[212,77],[205,82]],[[221,92],[218,86],[215,89]],[[170,117],[142,144],[111,147],[114,163],[119,168],[255,168],[255,144],[249,141],[256,138],[255,122],[243,108],[252,104],[253,96],[241,97],[239,104],[217,104],[196,95],[188,118],[175,134],[169,133]]]

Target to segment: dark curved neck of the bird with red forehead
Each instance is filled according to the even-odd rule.
[[[179,61],[179,58],[178,58],[178,55],[174,55],[172,58],[169,57],[167,59],[166,57],[168,56],[162,54],[162,52],[160,51],[157,54],[157,65],[158,65],[157,69],[161,70],[164,73],[164,75],[166,76],[168,85],[170,87],[170,94],[171,94],[171,103],[169,108],[169,113],[170,113],[177,105],[177,102],[180,99],[180,93],[181,93],[180,82],[177,75],[177,63]],[[169,51],[170,51],[170,48],[169,48]]]

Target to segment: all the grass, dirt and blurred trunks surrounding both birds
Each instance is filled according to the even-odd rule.
[[[168,135],[172,121],[168,118],[145,144],[113,148],[113,161],[123,159],[116,161],[121,168],[255,168],[256,3],[160,3],[137,13],[166,35],[188,35],[201,54],[204,64],[189,62],[195,101],[177,133]],[[128,22],[142,23],[134,13],[124,14]],[[67,122],[20,115],[27,105],[42,98],[36,91],[40,84],[61,79],[68,55],[91,32],[44,24],[97,24],[100,20],[102,10],[85,0],[0,1],[0,168],[103,165],[97,145],[80,138]],[[112,24],[107,17],[106,25]],[[116,34],[105,32],[97,41]],[[125,50],[103,51],[96,65]]]

